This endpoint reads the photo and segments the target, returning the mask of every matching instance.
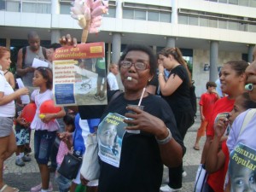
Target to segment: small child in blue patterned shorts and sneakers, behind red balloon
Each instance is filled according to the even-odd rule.
[[[29,144],[29,125],[30,123],[26,122],[25,119],[22,118],[22,110],[25,107],[24,104],[22,104],[20,98],[16,100],[16,120],[15,120],[15,137],[16,137],[16,160],[15,165],[16,166],[25,166],[24,162],[31,161],[31,158],[29,156],[24,155],[25,151],[25,145]]]

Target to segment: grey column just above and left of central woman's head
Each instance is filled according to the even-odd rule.
[[[121,53],[121,34],[113,32],[112,40],[112,62],[117,63],[119,61]]]

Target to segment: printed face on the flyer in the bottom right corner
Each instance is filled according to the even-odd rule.
[[[237,174],[236,174],[237,173]],[[255,174],[249,168],[238,168],[231,176],[232,192],[256,192]]]

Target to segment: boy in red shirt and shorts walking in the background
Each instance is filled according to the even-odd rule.
[[[207,125],[209,123],[210,115],[212,114],[212,109],[214,103],[218,100],[219,96],[216,91],[216,86],[214,82],[207,82],[207,92],[201,95],[201,99],[199,102],[200,105],[200,114],[201,114],[201,126],[197,131],[196,139],[195,139],[195,150],[200,150],[199,141],[201,137],[206,135]]]

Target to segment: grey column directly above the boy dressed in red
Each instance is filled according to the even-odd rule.
[[[218,41],[210,43],[210,81],[218,79]]]

